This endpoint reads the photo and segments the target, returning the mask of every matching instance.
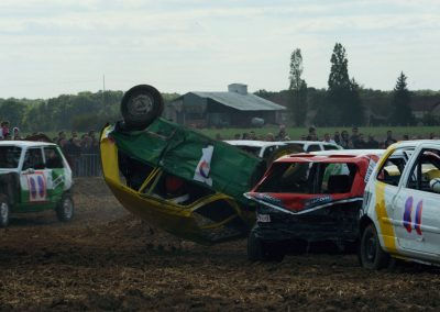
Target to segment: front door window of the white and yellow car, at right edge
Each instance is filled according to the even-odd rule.
[[[436,178],[440,178],[440,152],[429,148],[422,149],[411,168],[406,187],[433,192],[430,181]]]

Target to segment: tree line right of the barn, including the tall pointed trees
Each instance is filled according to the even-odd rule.
[[[362,88],[349,76],[346,52],[340,43],[334,45],[330,64],[328,88],[310,88],[301,77],[302,55],[300,48],[296,48],[290,55],[288,89],[280,92],[260,90],[256,94],[284,103],[289,110],[290,124],[299,126],[307,122],[319,126],[415,125],[416,119],[410,107],[413,100],[431,97],[440,103],[440,92],[409,91],[403,71],[393,91]],[[308,119],[310,111],[315,114]],[[425,115],[421,122],[426,125],[440,124],[430,114]]]

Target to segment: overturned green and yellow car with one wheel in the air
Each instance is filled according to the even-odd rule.
[[[265,163],[168,122],[161,93],[140,85],[121,102],[123,121],[100,136],[105,180],[133,214],[179,237],[211,245],[248,235],[255,204],[244,198]]]

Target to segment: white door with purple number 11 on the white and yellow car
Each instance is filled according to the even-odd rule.
[[[394,203],[397,244],[410,254],[440,255],[440,194],[429,182],[440,177],[440,147],[424,146],[405,172]]]

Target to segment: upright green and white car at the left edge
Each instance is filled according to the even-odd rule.
[[[56,144],[0,142],[0,227],[10,215],[55,210],[61,221],[74,216],[72,170]]]

